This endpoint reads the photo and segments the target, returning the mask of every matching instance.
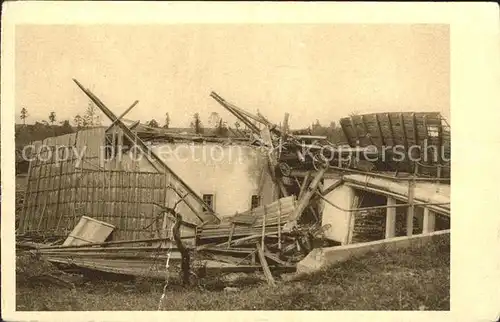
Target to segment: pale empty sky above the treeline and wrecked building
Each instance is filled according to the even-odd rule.
[[[194,113],[235,117],[224,99],[292,128],[352,112],[450,115],[446,25],[157,24],[16,27],[16,122],[73,120],[90,88],[116,115],[188,127]],[[103,115],[103,119],[106,117]],[[107,121],[107,120],[106,120]],[[104,122],[109,123],[109,122]]]

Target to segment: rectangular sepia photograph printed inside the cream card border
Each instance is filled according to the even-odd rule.
[[[450,311],[449,24],[12,35],[16,311]]]

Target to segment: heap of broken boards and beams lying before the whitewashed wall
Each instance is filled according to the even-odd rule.
[[[165,238],[160,246],[152,246],[160,239],[52,246],[19,242],[18,246],[31,246],[52,263],[158,279],[165,278],[167,260],[172,263],[172,271],[185,271],[181,262],[188,254],[191,259],[187,269],[196,276],[263,271],[273,283],[273,274],[295,271],[297,261],[312,250],[315,240],[328,228],[310,226],[284,231],[296,209],[295,196],[289,196],[224,218],[220,224],[206,224],[197,229],[195,245]],[[177,218],[178,223],[181,221]],[[180,241],[189,236],[177,238]]]

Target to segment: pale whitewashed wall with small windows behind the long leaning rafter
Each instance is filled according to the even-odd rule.
[[[169,143],[155,145],[152,150],[200,196],[214,194],[215,211],[221,216],[248,210],[251,196],[259,191],[263,203],[274,201],[266,155],[254,147]],[[153,171],[145,159],[139,168]]]

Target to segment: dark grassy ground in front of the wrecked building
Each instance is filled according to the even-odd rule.
[[[201,289],[172,284],[163,309],[449,310],[449,242],[371,253],[293,281],[278,281],[275,288],[259,279],[253,282],[233,292],[223,291],[221,281],[206,281]],[[161,283],[102,280],[76,290],[18,285],[17,310],[157,310],[162,287]]]

